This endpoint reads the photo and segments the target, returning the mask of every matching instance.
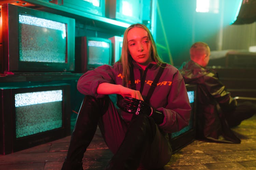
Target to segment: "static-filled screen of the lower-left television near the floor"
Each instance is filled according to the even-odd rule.
[[[15,94],[16,138],[61,128],[62,102],[62,90]]]

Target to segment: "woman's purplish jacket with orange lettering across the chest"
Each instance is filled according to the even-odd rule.
[[[139,90],[145,99],[158,73],[159,66],[149,64],[144,71],[145,75],[143,75],[141,67],[135,62],[133,65],[136,90]],[[97,94],[98,85],[103,82],[122,85],[122,73],[123,67],[120,62],[113,66],[100,66],[82,75],[77,82],[77,89],[84,95],[103,97],[103,95]],[[128,88],[131,88],[130,83]],[[117,95],[117,102],[122,103],[122,100],[123,97]],[[158,125],[164,132],[176,132],[188,125],[191,107],[183,77],[175,67],[167,64],[152,94],[150,105],[165,115],[163,123]],[[131,114],[123,111],[120,114],[127,123],[130,122]]]

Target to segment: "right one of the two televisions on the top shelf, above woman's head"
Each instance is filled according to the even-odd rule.
[[[142,23],[143,0],[108,0],[106,1],[106,16],[127,22]]]

